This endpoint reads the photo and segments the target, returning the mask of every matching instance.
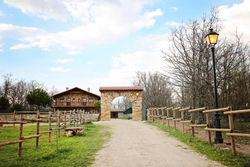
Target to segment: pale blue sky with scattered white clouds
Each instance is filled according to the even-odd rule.
[[[59,91],[131,85],[167,68],[171,29],[220,9],[224,35],[250,39],[250,0],[2,0],[0,75]]]

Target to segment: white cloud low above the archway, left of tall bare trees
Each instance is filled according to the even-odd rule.
[[[131,53],[121,53],[113,58],[112,69],[102,78],[93,80],[99,86],[131,85],[137,71],[163,71],[165,63],[161,50],[167,50],[168,34],[149,35],[140,39],[142,48]]]

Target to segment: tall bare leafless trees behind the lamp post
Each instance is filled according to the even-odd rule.
[[[211,27],[221,30],[216,13],[177,27],[172,32],[171,47],[163,52],[166,75],[180,88],[182,106],[214,106],[212,57],[205,41]],[[237,33],[234,40],[221,38],[216,45],[220,106],[244,108],[249,103],[249,51]]]

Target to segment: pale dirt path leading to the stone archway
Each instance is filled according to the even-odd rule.
[[[222,167],[156,127],[141,121],[96,122],[112,129],[111,140],[97,152],[93,167]]]

